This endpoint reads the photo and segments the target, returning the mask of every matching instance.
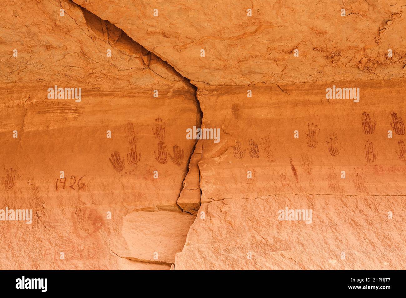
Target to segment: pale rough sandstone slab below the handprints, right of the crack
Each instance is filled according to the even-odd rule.
[[[202,204],[205,218],[192,225],[175,269],[402,270],[404,200],[270,195]],[[279,221],[285,208],[313,210],[311,223]]]

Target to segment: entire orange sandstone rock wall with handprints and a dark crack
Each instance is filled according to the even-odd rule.
[[[3,6],[0,269],[406,269],[405,7]]]

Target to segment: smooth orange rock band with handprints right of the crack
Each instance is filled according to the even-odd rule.
[[[202,140],[202,202],[283,193],[406,195],[404,80],[334,84],[359,88],[359,102],[326,99],[330,83],[253,86],[252,98],[247,87],[200,91],[202,127],[220,131],[218,143]]]

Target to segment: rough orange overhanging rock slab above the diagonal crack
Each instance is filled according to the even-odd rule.
[[[74,1],[194,84],[404,77],[406,1]]]

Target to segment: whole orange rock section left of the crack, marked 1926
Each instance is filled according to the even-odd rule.
[[[176,202],[196,142],[184,131],[201,121],[195,88],[67,1],[3,7],[0,52],[0,208],[34,214],[0,221],[0,268],[169,269],[194,221]],[[81,101],[48,99],[54,85],[82,88]]]

